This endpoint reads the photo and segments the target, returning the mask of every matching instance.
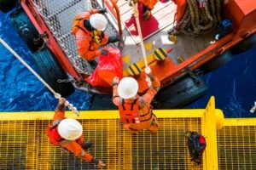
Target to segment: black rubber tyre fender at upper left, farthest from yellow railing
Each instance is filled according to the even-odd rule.
[[[26,46],[35,52],[38,48],[43,46],[43,39],[39,36],[38,31],[32,25],[31,20],[28,19],[26,13],[22,8],[17,9],[10,14],[11,21],[18,31],[21,39],[26,42]]]

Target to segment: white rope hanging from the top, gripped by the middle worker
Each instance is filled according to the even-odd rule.
[[[137,9],[137,3],[133,3],[133,13],[136,19],[136,24],[137,24],[137,31],[140,37],[140,44],[142,47],[142,51],[143,51],[143,59],[144,59],[144,64],[145,64],[145,68],[149,68],[148,67],[148,60],[147,60],[147,55],[146,55],[146,50],[144,47],[144,42],[143,42],[143,33],[142,33],[142,28],[141,28],[141,24],[140,24],[140,20],[139,20],[139,12]],[[151,81],[150,78],[148,78],[148,76],[146,77],[146,81],[148,82],[148,86],[151,86]]]

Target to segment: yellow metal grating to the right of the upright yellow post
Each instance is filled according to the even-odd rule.
[[[218,131],[218,168],[256,169],[256,124],[224,126]]]

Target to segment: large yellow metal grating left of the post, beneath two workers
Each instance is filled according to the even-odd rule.
[[[0,169],[94,169],[53,147],[45,130],[50,120],[0,121]],[[189,160],[184,132],[201,132],[201,118],[160,118],[160,130],[131,136],[118,119],[83,119],[89,152],[106,169],[202,169]]]

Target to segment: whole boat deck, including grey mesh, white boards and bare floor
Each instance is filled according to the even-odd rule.
[[[92,5],[85,0],[67,0],[65,3],[61,0],[50,2],[47,0],[32,0],[32,2],[37,7],[39,14],[44,18],[49,30],[61,45],[62,50],[76,70],[86,75],[90,74],[93,69],[85,59],[79,58],[76,42],[74,36],[70,34],[70,31],[76,14],[89,10],[92,8]],[[102,1],[98,1],[98,3],[94,5],[96,5],[96,8],[100,8]],[[132,19],[134,18],[132,17],[133,8],[130,7],[125,0],[119,0],[117,5],[119,6],[122,30],[124,32],[123,39],[125,47],[122,50],[122,56],[124,68],[126,69],[132,63],[143,59],[143,54],[138,44],[140,40],[137,36],[134,19]],[[172,1],[159,1],[152,11],[153,16],[147,21],[141,20],[141,25],[147,55],[153,53],[154,48],[173,48],[172,52],[168,54],[168,57],[177,64],[178,56],[183,56],[183,59],[188,59],[201,49],[206,48],[209,42],[212,41],[213,36],[190,37],[183,35],[177,37],[177,44],[172,44],[167,38],[167,31],[173,26],[174,14],[176,12],[175,8],[176,5],[172,3]],[[116,20],[110,11],[108,11],[107,15],[109,20],[107,29],[108,35],[117,35]]]

